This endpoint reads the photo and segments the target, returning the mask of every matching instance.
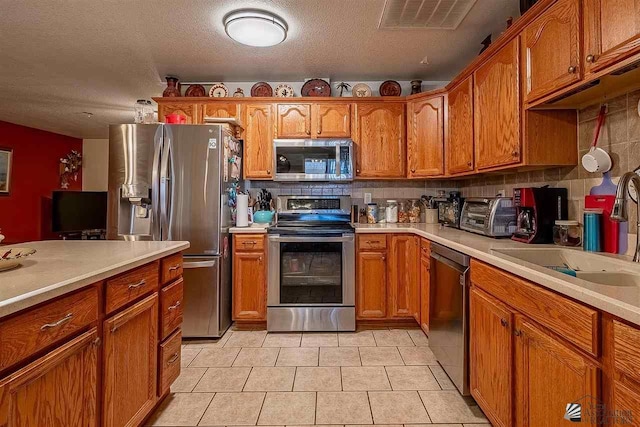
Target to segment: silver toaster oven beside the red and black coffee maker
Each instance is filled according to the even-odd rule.
[[[516,207],[510,197],[468,198],[460,229],[489,237],[511,237],[516,231]]]

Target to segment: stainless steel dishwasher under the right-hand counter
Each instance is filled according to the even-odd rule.
[[[429,347],[460,393],[469,395],[470,258],[431,242]]]

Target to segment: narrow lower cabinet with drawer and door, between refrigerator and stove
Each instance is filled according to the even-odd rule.
[[[265,240],[266,236],[260,234],[234,236],[233,320],[267,320]]]

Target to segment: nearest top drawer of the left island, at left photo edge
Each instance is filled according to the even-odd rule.
[[[0,369],[14,365],[98,320],[98,289],[62,297],[0,322]]]

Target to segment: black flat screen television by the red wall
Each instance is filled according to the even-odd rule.
[[[51,230],[75,233],[107,228],[106,191],[54,191]]]

